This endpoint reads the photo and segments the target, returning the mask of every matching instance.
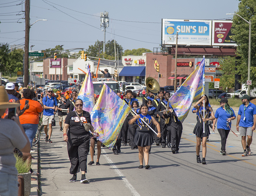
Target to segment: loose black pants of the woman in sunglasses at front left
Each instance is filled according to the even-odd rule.
[[[90,133],[86,135],[73,135],[68,131],[68,156],[71,163],[70,174],[80,171],[87,172],[87,154],[90,147]]]

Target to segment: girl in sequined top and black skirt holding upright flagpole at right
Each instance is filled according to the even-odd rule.
[[[205,103],[204,103],[205,102]],[[214,113],[210,111],[209,108],[209,100],[207,96],[203,96],[199,99],[199,101],[196,102],[194,105],[194,108],[197,109],[197,123],[194,128],[193,133],[196,134],[196,162],[197,163],[202,163],[206,164],[205,161],[205,156],[206,156],[206,138],[208,135],[210,135],[210,129],[209,129],[209,124],[207,121],[215,119]],[[205,107],[204,107],[205,105]],[[205,111],[205,115],[204,115]],[[212,118],[210,118],[212,117]],[[204,126],[204,128],[203,128]],[[204,132],[203,132],[204,129]],[[203,138],[202,142],[202,153],[203,153],[203,158],[202,161],[200,159],[200,146],[201,146],[201,137]]]

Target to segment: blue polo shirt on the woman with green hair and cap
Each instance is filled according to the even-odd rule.
[[[234,110],[232,108],[230,108],[232,110],[232,115],[230,115],[229,113],[227,113],[227,111],[225,109],[223,109],[222,107],[219,107],[216,112],[215,112],[215,118],[218,119],[217,121],[217,129],[225,129],[225,130],[230,130],[229,127],[231,127],[231,121],[230,123],[228,123],[229,127],[227,127],[227,118],[231,118],[233,116],[236,117],[236,114],[234,112]]]

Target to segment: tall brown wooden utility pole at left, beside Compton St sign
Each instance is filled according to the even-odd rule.
[[[28,85],[28,50],[29,50],[29,0],[25,0],[25,53],[24,53],[24,86]]]

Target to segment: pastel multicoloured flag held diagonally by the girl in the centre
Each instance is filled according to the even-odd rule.
[[[131,108],[104,83],[91,113],[92,126],[100,135],[97,139],[112,150],[130,112]]]

